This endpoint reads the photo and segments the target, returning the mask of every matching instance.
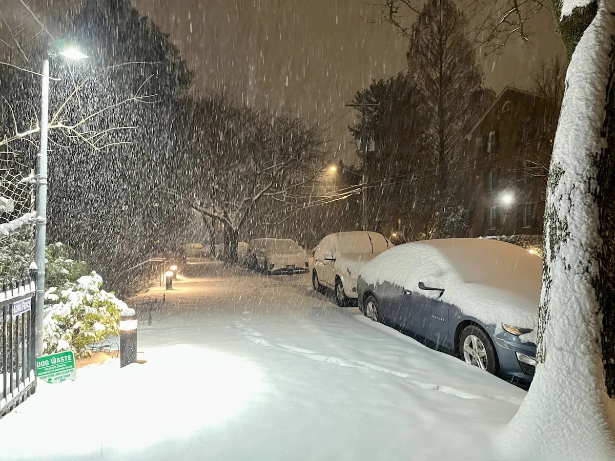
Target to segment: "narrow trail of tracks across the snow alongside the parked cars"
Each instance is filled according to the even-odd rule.
[[[370,369],[372,371],[392,374],[393,376],[397,376],[403,379],[403,382],[412,387],[416,387],[422,390],[429,390],[435,392],[443,392],[458,398],[463,398],[467,400],[480,400],[480,399],[489,399],[502,401],[505,403],[520,405],[521,401],[518,398],[507,398],[506,396],[496,396],[496,395],[477,395],[474,393],[466,392],[464,390],[440,384],[431,384],[428,382],[418,381],[414,379],[410,379],[411,375],[403,372],[396,371],[390,368],[386,368],[384,366],[380,366],[374,363],[370,363],[363,360],[353,360],[353,359],[345,359],[341,357],[335,357],[333,355],[323,355],[314,350],[303,349],[301,347],[297,347],[294,345],[288,344],[277,344],[269,341],[264,338],[264,335],[247,325],[244,322],[250,321],[250,311],[245,311],[241,315],[242,321],[236,321],[233,323],[233,327],[240,330],[243,333],[245,341],[252,342],[253,344],[260,345],[262,347],[276,347],[277,349],[284,350],[285,352],[291,353],[292,355],[296,355],[298,357],[306,358],[308,360],[314,361],[322,361],[326,363],[331,363],[337,366],[344,366],[349,368],[362,368],[362,369]]]

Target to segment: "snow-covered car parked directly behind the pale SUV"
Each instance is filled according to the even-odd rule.
[[[249,266],[266,274],[307,272],[308,254],[290,238],[256,238],[248,248]]]

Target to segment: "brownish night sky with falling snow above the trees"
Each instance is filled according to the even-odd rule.
[[[3,11],[16,1],[2,0]],[[365,20],[378,18],[370,0],[134,3],[171,34],[196,71],[196,91],[224,89],[248,103],[320,122],[332,139],[331,157],[354,160],[345,128],[355,114],[344,104],[370,79],[406,66],[407,45],[394,28]],[[550,12],[528,26],[534,31],[529,43],[511,42],[501,55],[481,61],[485,83],[494,90],[528,85],[528,73],[563,53]]]

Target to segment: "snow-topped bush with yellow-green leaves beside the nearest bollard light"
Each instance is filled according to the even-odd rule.
[[[100,275],[92,272],[46,291],[45,353],[73,350],[78,357],[87,357],[90,344],[118,333],[119,316],[128,307],[113,293],[101,290],[102,285]]]

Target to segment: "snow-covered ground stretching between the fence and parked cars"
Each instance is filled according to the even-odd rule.
[[[40,383],[0,420],[0,459],[480,461],[525,396],[309,275],[204,268],[139,327],[146,363]]]

